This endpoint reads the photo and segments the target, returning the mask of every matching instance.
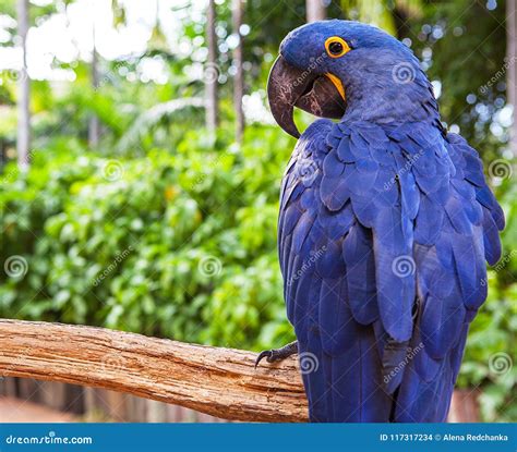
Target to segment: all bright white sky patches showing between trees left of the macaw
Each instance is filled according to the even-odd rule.
[[[27,36],[27,71],[33,80],[51,82],[72,82],[75,73],[72,70],[52,68],[55,59],[63,63],[72,63],[77,59],[89,62],[94,42],[103,59],[140,56],[146,50],[156,17],[159,17],[169,48],[173,53],[190,56],[192,60],[204,61],[200,52],[197,58],[192,52],[192,42],[182,39],[182,21],[190,15],[193,22],[202,22],[206,9],[206,0],[193,2],[185,0],[119,0],[125,9],[125,25],[113,26],[111,0],[76,0],[65,10],[60,9],[48,20],[31,27]],[[220,0],[221,1],[221,0]],[[33,4],[46,5],[52,0],[31,0]],[[187,4],[191,8],[184,9]],[[0,46],[9,39],[9,30],[15,29],[16,22],[0,14]],[[248,29],[241,33],[247,34]],[[226,44],[232,46],[231,35]],[[20,47],[0,47],[0,71],[16,71],[22,66],[22,50]],[[167,83],[168,75],[165,63],[159,58],[145,58],[139,64],[142,81]],[[185,68],[191,78],[203,76],[203,64]],[[265,93],[255,91],[245,95],[243,109],[251,121],[273,123],[273,117],[265,107]]]

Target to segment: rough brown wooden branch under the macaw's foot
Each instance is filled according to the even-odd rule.
[[[306,422],[297,359],[103,328],[0,319],[0,375],[98,387],[232,420]]]

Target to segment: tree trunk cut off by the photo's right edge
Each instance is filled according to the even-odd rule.
[[[506,96],[507,102],[514,107],[514,122],[510,130],[509,146],[517,157],[517,0],[506,0]]]

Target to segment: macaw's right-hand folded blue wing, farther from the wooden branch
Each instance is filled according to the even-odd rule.
[[[395,420],[441,422],[469,323],[486,298],[485,260],[494,264],[501,256],[504,215],[465,139],[453,134],[443,139],[418,127],[402,132],[404,156],[414,143],[423,151],[400,178],[402,193],[409,185],[420,197],[413,247],[419,313],[411,340],[418,353],[404,375]]]

